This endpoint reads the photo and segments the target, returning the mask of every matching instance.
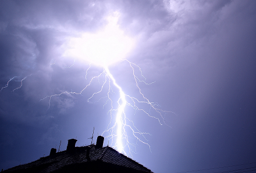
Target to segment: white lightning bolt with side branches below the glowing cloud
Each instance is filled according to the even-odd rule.
[[[104,135],[105,133],[108,134],[105,138],[111,140],[111,145],[113,147],[115,147],[118,152],[120,153],[124,153],[126,155],[131,155],[132,157],[132,153],[134,153],[133,149],[136,149],[136,144],[131,143],[129,141],[129,135],[128,134],[132,134],[133,138],[135,138],[137,141],[144,143],[145,145],[147,145],[149,147],[149,149],[151,149],[148,140],[146,138],[145,135],[150,135],[147,132],[141,132],[136,125],[134,124],[134,122],[132,120],[130,120],[129,116],[126,115],[126,106],[131,107],[132,109],[135,110],[135,112],[137,111],[142,111],[144,114],[146,114],[148,117],[151,118],[155,118],[155,120],[158,121],[159,124],[166,124],[165,123],[165,119],[163,117],[163,114],[166,113],[173,113],[172,111],[164,111],[161,109],[158,109],[159,105],[155,102],[150,102],[150,100],[148,100],[143,93],[141,92],[141,89],[138,85],[138,82],[143,82],[144,84],[150,85],[154,82],[151,82],[150,84],[148,84],[147,82],[145,82],[146,78],[144,77],[141,69],[139,66],[137,66],[137,64],[131,63],[129,62],[129,60],[123,60],[126,61],[127,63],[129,63],[129,66],[131,67],[132,70],[132,74],[134,77],[134,81],[136,82],[136,87],[138,88],[138,91],[140,93],[140,95],[142,96],[143,100],[139,100],[134,96],[130,96],[127,95],[122,87],[120,87],[120,85],[118,85],[118,83],[116,82],[115,77],[113,77],[113,75],[111,74],[111,72],[109,71],[108,66],[105,66],[102,70],[101,73],[99,73],[98,75],[95,75],[94,77],[92,77],[90,79],[90,81],[88,82],[88,84],[86,85],[86,87],[84,87],[80,92],[68,92],[68,91],[64,91],[61,92],[59,94],[55,94],[55,95],[48,95],[45,98],[41,99],[47,99],[49,98],[49,105],[48,105],[48,109],[51,106],[51,99],[54,96],[61,96],[61,95],[82,95],[82,93],[91,85],[91,83],[94,80],[99,80],[100,77],[104,77],[104,81],[102,82],[101,88],[97,91],[94,92],[88,99],[87,102],[90,102],[90,100],[92,98],[94,98],[95,95],[102,93],[103,88],[107,87],[107,93],[105,93],[106,95],[103,98],[107,98],[104,106],[107,103],[111,104],[111,109],[108,111],[110,116],[111,116],[111,120],[108,124],[108,127],[106,128],[106,130],[104,132],[102,132],[102,135]],[[89,72],[91,67],[88,67],[88,69],[86,70],[86,76],[87,73]],[[140,76],[143,78],[143,80],[140,80],[139,77],[135,74],[135,70],[134,68],[137,68],[140,71]],[[116,89],[118,89],[118,99],[115,101],[113,100],[113,98],[111,98],[111,94],[113,93],[113,87],[115,87]],[[101,100],[99,99],[99,100]],[[98,100],[98,101],[99,101]],[[98,102],[97,101],[97,102]],[[118,103],[118,106],[114,106],[114,103]],[[150,113],[150,110],[147,111],[143,108],[140,108],[137,104],[147,104],[150,107],[150,110],[154,110],[155,112],[158,113],[158,117],[157,116],[152,116]],[[103,106],[103,107],[104,107]],[[135,113],[134,113],[135,114]],[[175,113],[173,113],[175,114]],[[115,118],[113,118],[115,117]],[[168,125],[168,124],[166,124]],[[127,147],[129,152],[125,152],[125,148]]]

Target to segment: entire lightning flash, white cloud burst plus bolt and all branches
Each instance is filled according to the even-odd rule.
[[[127,107],[130,107],[134,110],[134,115],[138,112],[141,112],[148,117],[154,118],[159,122],[159,124],[166,124],[163,117],[166,113],[173,113],[171,111],[164,111],[159,109],[159,105],[155,102],[150,102],[139,87],[139,82],[143,82],[146,85],[150,85],[154,82],[147,83],[146,78],[144,77],[142,70],[135,63],[131,63],[129,60],[122,59],[125,57],[126,53],[132,48],[133,41],[130,38],[127,38],[123,35],[123,32],[119,30],[117,25],[118,17],[108,18],[109,24],[106,26],[104,31],[101,31],[97,35],[84,34],[81,38],[71,39],[71,44],[74,46],[74,49],[67,50],[63,53],[63,56],[76,57],[79,60],[86,60],[89,62],[89,67],[86,70],[85,78],[87,80],[88,74],[90,73],[91,63],[97,66],[102,67],[102,71],[88,79],[88,84],[81,89],[80,92],[73,91],[64,91],[54,95],[48,95],[42,98],[41,100],[49,99],[48,109],[51,107],[51,101],[53,97],[58,97],[62,95],[82,95],[83,92],[86,92],[87,88],[92,85],[94,80],[102,80],[101,87],[97,92],[94,92],[91,96],[88,97],[87,102],[90,102],[96,95],[101,94],[106,98],[106,102],[103,107],[108,104],[110,109],[108,114],[110,115],[111,120],[109,121],[108,127],[102,132],[102,135],[105,135],[105,138],[108,138],[111,142],[110,145],[115,147],[120,153],[126,155],[131,155],[136,150],[136,143],[130,142],[131,136],[137,142],[144,143],[150,149],[150,145],[146,138],[147,135],[150,135],[147,132],[141,132],[137,127],[136,123],[130,118],[130,113],[127,113]],[[86,48],[86,51],[84,50]],[[131,74],[133,75],[134,82],[136,84],[136,89],[138,90],[139,97],[133,95],[127,95],[120,87],[116,78],[112,75],[109,70],[109,65],[117,61],[123,60],[129,64],[131,69]],[[75,60],[74,60],[75,63]],[[72,64],[72,66],[74,65]],[[55,64],[55,62],[53,63]],[[72,66],[66,68],[72,68]],[[136,75],[135,71],[140,71],[139,76]],[[1,88],[1,91],[8,87],[9,82],[18,77],[11,78],[5,87]],[[19,89],[22,87],[22,81],[27,77],[24,77],[19,81],[20,87],[13,89]],[[115,88],[115,89],[113,89]],[[118,94],[114,92],[118,91]],[[118,99],[113,99],[111,95],[118,95]],[[140,99],[139,99],[140,98]],[[99,100],[101,100],[99,99]],[[40,101],[41,101],[40,100]],[[98,100],[98,101],[99,101]],[[148,109],[141,107],[140,105],[146,105]],[[153,116],[151,111],[154,110],[157,113],[157,116]],[[173,113],[175,114],[175,113]],[[166,124],[167,125],[167,124]],[[129,135],[131,134],[131,136]]]

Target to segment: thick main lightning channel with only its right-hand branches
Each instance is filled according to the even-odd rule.
[[[163,117],[163,113],[166,114],[166,113],[173,113],[172,111],[165,111],[165,110],[161,110],[161,109],[158,109],[157,107],[159,106],[157,103],[154,103],[154,102],[150,102],[150,100],[148,100],[147,98],[145,98],[145,96],[143,95],[143,93],[141,92],[141,89],[140,87],[138,86],[138,82],[144,82],[144,84],[146,85],[150,85],[154,82],[151,82],[150,84],[148,84],[147,82],[145,82],[145,77],[140,69],[139,66],[137,66],[137,64],[134,64],[134,63],[131,63],[129,62],[129,60],[126,60],[126,62],[128,62],[130,64],[130,67],[133,71],[133,77],[134,77],[134,81],[136,82],[136,86],[139,90],[139,93],[140,95],[143,97],[143,101],[142,100],[138,100],[137,98],[134,98],[133,96],[130,96],[130,95],[127,95],[126,93],[123,92],[122,88],[116,84],[116,80],[115,78],[113,77],[113,75],[110,73],[108,67],[105,67],[105,72],[106,72],[106,75],[107,77],[109,77],[112,82],[113,82],[113,85],[115,85],[116,88],[119,89],[119,99],[118,99],[118,109],[117,109],[117,113],[116,113],[116,121],[115,121],[115,124],[111,127],[111,128],[107,128],[103,133],[102,135],[105,133],[105,132],[108,132],[109,135],[106,136],[106,138],[108,139],[112,139],[112,142],[113,142],[113,138],[116,138],[116,142],[115,142],[115,147],[117,147],[118,151],[121,153],[124,153],[124,154],[127,154],[125,152],[125,146],[128,147],[129,149],[129,154],[132,156],[131,152],[133,152],[133,150],[131,150],[131,146],[132,147],[135,147],[136,149],[136,145],[134,145],[133,143],[130,143],[129,142],[129,139],[128,139],[128,135],[127,135],[127,129],[129,129],[131,131],[131,134],[134,136],[135,139],[137,139],[138,141],[140,141],[141,143],[144,143],[145,145],[147,145],[149,148],[150,145],[147,143],[147,142],[144,142],[144,140],[140,139],[138,137],[138,135],[142,136],[145,140],[147,140],[145,138],[144,135],[150,135],[149,133],[147,132],[141,132],[140,130],[138,130],[138,128],[134,125],[134,122],[131,121],[125,114],[125,107],[126,106],[130,106],[132,107],[135,111],[142,111],[143,113],[147,114],[148,117],[151,117],[151,118],[155,118],[159,124],[162,125],[161,121],[163,122],[163,124],[165,125],[168,125],[166,124],[165,122],[165,118]],[[134,67],[137,67],[138,70],[140,71],[140,75],[141,77],[143,77],[143,80],[140,80],[137,75],[135,74],[135,71],[134,71]],[[109,94],[109,93],[108,93]],[[108,99],[111,100],[108,96]],[[158,118],[158,117],[155,117],[155,116],[152,116],[150,113],[148,113],[148,111],[144,110],[144,109],[141,109],[140,107],[138,107],[137,103],[144,103],[144,104],[148,104],[150,106],[151,109],[155,110],[155,112],[158,113],[158,115],[161,117],[161,120]],[[112,106],[112,100],[111,100],[111,106]],[[112,111],[116,111],[116,109],[112,109],[109,110],[111,112],[111,115],[112,115]],[[134,113],[135,114],[135,113]],[[173,113],[175,114],[175,113]],[[176,114],[175,114],[176,115]],[[112,116],[111,116],[112,117]],[[109,122],[109,125],[111,124],[111,122]],[[169,125],[168,125],[169,126]],[[127,129],[126,129],[127,128]],[[125,143],[125,146],[123,145],[123,140],[126,141]]]

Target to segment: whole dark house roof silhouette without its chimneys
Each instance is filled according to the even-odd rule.
[[[74,147],[3,172],[152,172],[109,146]]]

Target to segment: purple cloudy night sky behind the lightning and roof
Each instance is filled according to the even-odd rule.
[[[154,172],[256,166],[256,1],[1,0],[0,169],[48,156],[60,141],[60,150],[71,138],[88,145],[94,127],[111,135],[102,134],[117,112],[107,97],[117,109],[119,91],[86,58],[91,49],[106,62],[119,51],[108,65],[116,83],[129,103],[154,106],[127,104],[123,120],[148,133],[137,134],[143,143],[126,127],[129,157]]]

